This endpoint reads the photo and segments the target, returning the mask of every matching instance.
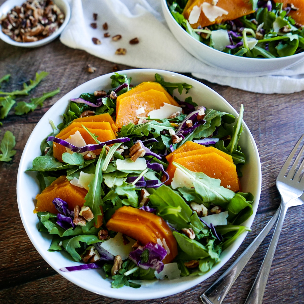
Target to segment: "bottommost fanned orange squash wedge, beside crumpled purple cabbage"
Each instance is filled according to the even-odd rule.
[[[170,253],[164,258],[163,263],[170,263],[177,255],[176,240],[166,222],[153,213],[123,206],[116,210],[106,224],[109,230],[121,232],[145,245],[149,242],[157,243],[165,239]]]

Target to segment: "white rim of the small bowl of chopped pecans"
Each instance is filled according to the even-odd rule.
[[[20,2],[23,3],[25,1],[26,0],[16,1],[15,4],[14,4],[14,6],[19,5],[18,3],[20,3]],[[64,19],[64,22],[61,24],[60,28],[57,29],[57,31],[54,32],[53,34],[51,34],[50,36],[48,36],[46,38],[43,38],[41,40],[33,41],[33,42],[18,42],[18,41],[12,40],[9,36],[7,36],[4,33],[2,33],[2,30],[1,30],[2,26],[0,25],[0,39],[3,40],[4,42],[9,43],[9,44],[11,44],[13,46],[16,46],[16,47],[39,47],[39,46],[45,45],[47,43],[50,43],[51,41],[53,41],[54,39],[56,39],[62,33],[62,31],[67,26],[67,23],[69,22],[70,17],[71,17],[71,8],[70,8],[70,5],[67,2],[67,0],[60,0],[60,1],[63,2],[64,6],[65,6],[65,9],[66,9],[65,19]],[[0,6],[0,16],[1,16],[2,13],[6,14],[10,9],[12,9],[14,7],[13,6],[13,7],[11,7],[8,10],[3,10],[3,12],[2,12],[2,9],[3,9],[4,6],[6,6],[7,2],[13,2],[13,1],[12,0],[6,0]],[[57,2],[57,0],[54,0],[55,4],[56,4],[56,2]]]

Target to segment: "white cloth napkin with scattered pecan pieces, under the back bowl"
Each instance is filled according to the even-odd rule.
[[[133,67],[192,73],[200,79],[250,92],[270,94],[304,90],[304,62],[267,76],[233,72],[202,63],[171,34],[161,11],[161,0],[70,1],[71,19],[60,36],[60,41],[68,47]],[[90,26],[95,22],[93,13],[98,14],[97,29]],[[109,26],[107,31],[102,28],[105,22]],[[122,39],[104,38],[106,32],[111,36],[120,34]],[[95,45],[92,37],[102,43]],[[135,37],[140,42],[130,45],[129,41]],[[116,55],[118,48],[126,48],[126,55]]]

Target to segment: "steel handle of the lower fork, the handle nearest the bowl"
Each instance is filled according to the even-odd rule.
[[[219,279],[211,285],[202,295],[201,300],[204,304],[221,304],[229,292],[231,286],[240,275],[241,271],[254,254],[257,247],[260,246],[264,238],[267,236],[273,225],[278,219],[280,208],[275,212],[274,216],[247,247],[247,249],[237,258],[236,261],[219,277]]]

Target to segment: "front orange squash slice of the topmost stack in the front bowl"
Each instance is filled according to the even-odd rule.
[[[153,89],[122,98],[116,103],[116,127],[121,128],[130,122],[137,124],[137,116],[147,117],[149,112],[159,109],[164,103],[171,104],[163,92]],[[144,112],[136,114],[136,110],[141,108]]]

